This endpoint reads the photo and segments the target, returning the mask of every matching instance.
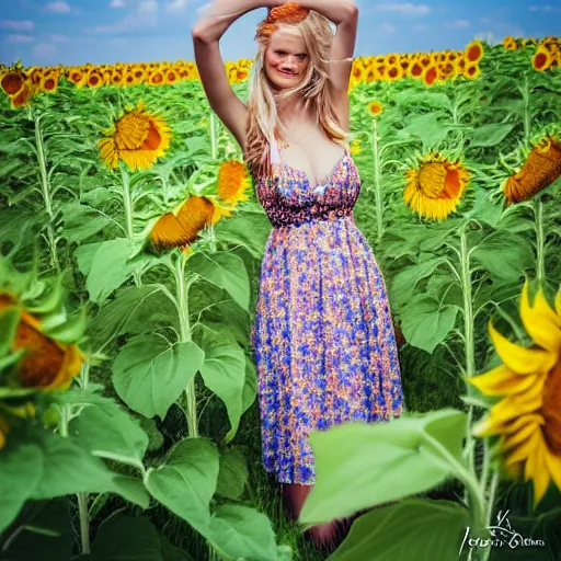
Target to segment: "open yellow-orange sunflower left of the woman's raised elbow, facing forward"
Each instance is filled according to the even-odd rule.
[[[142,101],[104,134],[110,136],[102,138],[98,146],[102,159],[111,169],[123,160],[133,170],[146,170],[164,156],[171,141],[170,128],[164,119],[145,111]]]

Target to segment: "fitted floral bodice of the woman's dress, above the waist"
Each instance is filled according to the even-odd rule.
[[[348,150],[318,185],[310,185],[304,171],[283,161],[276,142],[271,145],[271,163],[273,176],[253,180],[257,199],[273,227],[352,216],[360,178]]]

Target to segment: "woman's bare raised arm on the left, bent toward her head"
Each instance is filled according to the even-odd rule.
[[[245,149],[248,110],[228,81],[218,42],[228,27],[244,13],[280,3],[278,0],[215,0],[207,4],[204,15],[191,28],[195,61],[208,103],[242,150]]]

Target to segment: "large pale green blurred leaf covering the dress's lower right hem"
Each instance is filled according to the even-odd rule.
[[[432,489],[465,469],[465,435],[466,415],[454,409],[312,432],[317,482],[301,522],[341,518]]]

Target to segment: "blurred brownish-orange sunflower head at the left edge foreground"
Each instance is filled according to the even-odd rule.
[[[0,293],[0,313],[10,308],[20,309],[20,323],[11,351],[24,351],[15,367],[16,381],[25,388],[68,388],[84,359],[79,348],[46,335],[35,316],[23,310],[10,293]]]

